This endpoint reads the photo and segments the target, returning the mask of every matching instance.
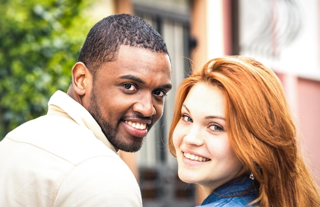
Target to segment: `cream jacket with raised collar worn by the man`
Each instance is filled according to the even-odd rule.
[[[95,119],[62,91],[48,105],[0,142],[0,206],[142,206]]]

